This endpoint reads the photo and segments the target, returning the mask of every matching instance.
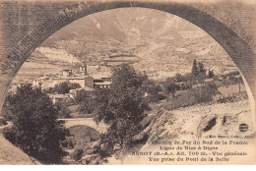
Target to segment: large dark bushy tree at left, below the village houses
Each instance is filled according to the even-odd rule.
[[[5,132],[6,139],[38,160],[60,161],[60,142],[67,131],[57,121],[58,111],[49,96],[40,88],[22,85],[8,100],[13,127]]]

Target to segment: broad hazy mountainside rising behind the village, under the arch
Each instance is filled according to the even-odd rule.
[[[19,74],[56,73],[79,60],[99,64],[109,58],[134,61],[137,71],[156,80],[190,72],[194,58],[217,74],[237,70],[204,30],[170,14],[137,8],[96,13],[60,29],[32,53]]]

